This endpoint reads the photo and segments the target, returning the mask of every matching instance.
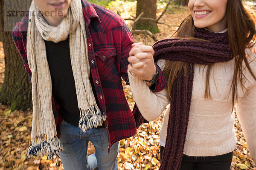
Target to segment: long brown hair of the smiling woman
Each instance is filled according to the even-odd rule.
[[[244,8],[241,0],[227,0],[226,17],[229,43],[233,50],[233,55],[235,58],[235,68],[232,80],[232,101],[234,106],[238,82],[240,82],[242,88],[245,88],[244,84],[242,83],[242,78],[244,77],[244,74],[242,72],[242,62],[245,63],[246,67],[250,71],[250,74],[252,74],[253,78],[256,80],[256,77],[255,75],[253,75],[253,72],[250,68],[245,54],[245,48],[252,48],[255,44],[255,42],[251,43],[251,41],[256,40],[256,20],[255,16],[253,16],[252,13]],[[195,36],[195,30],[196,28],[194,25],[194,21],[190,14],[183,20],[177,31],[172,35],[172,37],[193,39],[193,37]],[[168,79],[169,99],[171,99],[172,85],[177,78],[177,75],[180,72],[186,73],[189,67],[190,65],[187,62],[167,61],[165,63],[163,73]],[[209,91],[209,76],[211,68],[212,65],[208,65],[206,73],[206,88],[204,94],[205,98],[211,98]]]

